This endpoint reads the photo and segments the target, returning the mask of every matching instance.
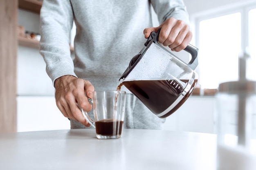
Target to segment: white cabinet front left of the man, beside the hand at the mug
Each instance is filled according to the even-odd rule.
[[[70,129],[70,121],[58,110],[54,96],[18,96],[17,132]]]

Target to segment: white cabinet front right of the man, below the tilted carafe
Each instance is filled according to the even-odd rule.
[[[215,97],[191,96],[166,118],[165,130],[214,133]]]

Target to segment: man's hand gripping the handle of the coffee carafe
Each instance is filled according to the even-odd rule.
[[[182,20],[169,18],[158,27],[144,29],[144,36],[148,38],[152,31],[157,32],[161,28],[158,42],[168,46],[172,51],[181,51],[186,48],[192,39],[192,32],[189,26]]]

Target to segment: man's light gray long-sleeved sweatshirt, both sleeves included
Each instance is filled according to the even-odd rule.
[[[40,54],[53,83],[63,75],[89,80],[95,90],[115,90],[131,58],[144,46],[152,26],[173,17],[189,23],[182,0],[43,0]],[[74,60],[70,31],[76,24]]]

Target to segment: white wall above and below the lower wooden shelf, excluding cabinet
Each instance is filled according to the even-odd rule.
[[[19,10],[18,24],[29,32],[39,33],[39,15]],[[45,62],[36,48],[18,46],[17,95],[54,95],[52,80],[45,71]]]

